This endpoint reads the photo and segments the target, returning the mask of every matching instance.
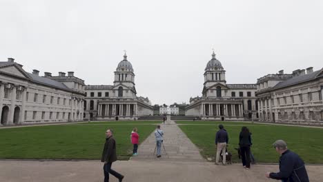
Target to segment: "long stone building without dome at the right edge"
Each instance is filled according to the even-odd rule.
[[[323,68],[268,74],[257,79],[260,121],[323,124]]]

